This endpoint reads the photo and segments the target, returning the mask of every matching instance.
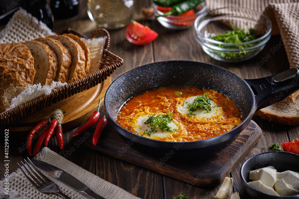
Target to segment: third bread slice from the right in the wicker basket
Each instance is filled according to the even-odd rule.
[[[35,41],[47,44],[56,54],[58,70],[55,81],[67,82],[71,70],[71,53],[68,49],[60,41],[53,38],[39,37]]]

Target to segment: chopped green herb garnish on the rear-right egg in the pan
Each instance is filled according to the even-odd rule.
[[[192,115],[195,116],[195,114],[193,113],[194,111],[196,110],[199,110],[199,109],[204,109],[205,110],[205,113],[207,112],[211,112],[211,102],[210,102],[210,98],[207,97],[207,94],[204,94],[204,95],[198,95],[192,104],[186,102],[187,104],[187,107],[188,107],[188,111],[189,111],[189,117],[192,117]]]

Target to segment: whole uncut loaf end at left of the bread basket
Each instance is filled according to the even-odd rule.
[[[0,44],[0,112],[10,107],[11,99],[32,86],[36,73],[30,50],[21,43]]]

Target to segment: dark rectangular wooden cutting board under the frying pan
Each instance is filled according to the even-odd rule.
[[[103,115],[103,107],[100,112]],[[162,175],[187,183],[191,182],[196,186],[216,186],[222,183],[262,136],[260,127],[251,121],[237,139],[221,152],[197,160],[177,161],[168,158],[167,154],[164,157],[154,157],[137,151],[130,146],[130,143],[123,141],[118,132],[108,123],[99,142],[94,146],[91,139],[95,126],[91,128],[92,133],[83,142],[83,146]]]

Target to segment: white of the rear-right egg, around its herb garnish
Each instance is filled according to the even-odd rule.
[[[177,112],[179,112],[181,115],[183,115],[184,117],[189,117],[189,111],[188,111],[188,103],[192,104],[194,99],[197,98],[198,95],[196,96],[192,96],[187,98],[183,103],[178,104],[177,105]],[[187,103],[186,103],[187,102]],[[206,117],[206,118],[212,118],[212,117],[218,117],[219,115],[222,115],[222,107],[217,106],[217,104],[213,101],[210,100],[211,103],[211,111],[210,112],[206,112],[204,109],[199,109],[193,112],[193,114],[195,114],[195,118],[201,120],[202,118]]]

